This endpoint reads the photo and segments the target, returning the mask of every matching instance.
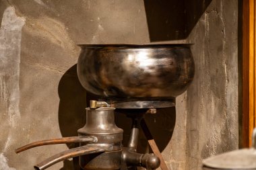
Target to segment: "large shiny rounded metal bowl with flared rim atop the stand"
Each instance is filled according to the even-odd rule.
[[[79,46],[79,81],[101,97],[168,99],[183,93],[193,80],[190,44]]]

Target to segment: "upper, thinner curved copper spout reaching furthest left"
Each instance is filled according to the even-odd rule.
[[[32,142],[30,144],[26,144],[25,146],[15,149],[15,153],[20,153],[22,151],[26,151],[29,148],[34,148],[36,146],[42,146],[42,145],[48,145],[48,144],[75,143],[75,142],[97,142],[97,138],[94,136],[73,136],[73,137],[66,137],[66,138],[41,140],[37,142]]]

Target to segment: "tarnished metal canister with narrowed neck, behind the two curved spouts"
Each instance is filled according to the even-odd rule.
[[[79,165],[85,170],[115,170],[121,168],[121,142],[123,130],[115,124],[115,108],[103,107],[96,110],[86,108],[86,125],[77,132],[79,136],[96,136],[97,143],[112,145],[112,151],[82,155]],[[87,144],[87,143],[85,143]],[[80,142],[83,146],[84,142]]]

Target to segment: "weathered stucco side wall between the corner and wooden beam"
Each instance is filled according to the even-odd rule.
[[[187,90],[187,169],[238,148],[238,1],[214,0],[193,28],[195,79]]]

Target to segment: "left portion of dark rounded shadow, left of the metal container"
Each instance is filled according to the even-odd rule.
[[[86,123],[86,90],[79,83],[77,65],[67,70],[59,81],[59,128],[63,137],[77,136],[77,130]],[[79,144],[67,144],[69,148]],[[80,170],[78,157],[64,161],[60,170]]]

